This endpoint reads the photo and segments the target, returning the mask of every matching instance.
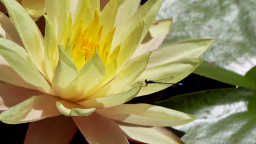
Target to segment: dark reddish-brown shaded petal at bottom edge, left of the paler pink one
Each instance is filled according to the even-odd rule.
[[[24,143],[68,144],[76,131],[77,126],[70,117],[45,118],[30,123]]]

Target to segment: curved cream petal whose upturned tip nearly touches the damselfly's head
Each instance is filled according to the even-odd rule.
[[[142,83],[138,82],[126,92],[120,92],[118,94],[114,94],[104,98],[84,100],[78,102],[78,104],[86,107],[95,107],[96,109],[105,109],[108,107],[121,105],[134,98],[139,93],[141,86]]]

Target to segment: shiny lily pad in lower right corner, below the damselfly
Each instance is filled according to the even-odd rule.
[[[180,95],[160,106],[197,117],[196,121],[174,127],[184,131],[185,143],[256,143],[256,115],[247,111],[248,100],[256,91],[216,89]]]

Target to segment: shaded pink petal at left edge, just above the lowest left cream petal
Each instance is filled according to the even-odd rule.
[[[19,104],[22,101],[31,98],[33,95],[39,94],[42,93],[27,88],[13,86],[5,82],[0,82],[0,111],[7,110],[11,106]]]

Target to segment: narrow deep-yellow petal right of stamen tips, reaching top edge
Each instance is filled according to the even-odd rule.
[[[101,40],[104,40],[114,28],[115,17],[117,16],[119,0],[110,1],[101,11],[100,19],[103,26]]]

